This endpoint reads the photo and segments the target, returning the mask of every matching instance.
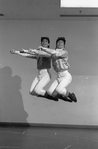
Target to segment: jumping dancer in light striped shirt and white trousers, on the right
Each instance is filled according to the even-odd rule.
[[[56,40],[56,49],[50,49],[40,47],[41,50],[47,52],[52,57],[52,64],[54,70],[57,72],[57,79],[52,83],[48,89],[48,94],[54,98],[71,99],[71,101],[77,102],[77,98],[74,93],[70,93],[66,87],[72,81],[72,75],[69,73],[68,52],[65,50],[66,40],[64,37],[59,37]],[[29,53],[33,53],[30,50]],[[38,53],[38,51],[35,51]],[[46,54],[47,55],[47,54]]]

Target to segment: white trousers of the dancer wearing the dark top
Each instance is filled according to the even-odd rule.
[[[44,95],[45,90],[43,89],[50,81],[50,72],[47,69],[38,70],[38,76],[34,79],[31,84],[30,94],[31,95]]]

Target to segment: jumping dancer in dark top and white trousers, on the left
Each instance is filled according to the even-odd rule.
[[[49,48],[50,39],[48,37],[41,37],[41,46]],[[40,53],[40,48],[38,48],[38,51]],[[31,55],[27,53],[28,50],[24,49],[21,51],[11,50],[10,52],[11,54],[18,54],[24,57],[37,59],[38,76],[34,79],[34,81],[31,84],[30,94],[49,98],[46,91],[44,90],[44,87],[49,83],[51,79],[51,74],[49,70],[51,68],[51,58],[50,58],[51,55],[46,54],[45,52],[41,52],[41,55],[35,54],[33,52],[33,54]],[[53,98],[53,100],[57,99]]]

